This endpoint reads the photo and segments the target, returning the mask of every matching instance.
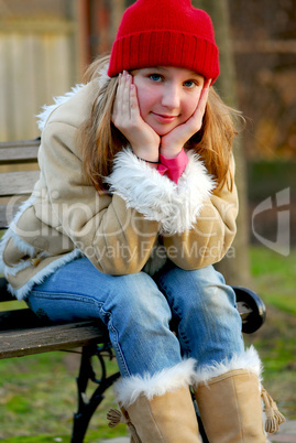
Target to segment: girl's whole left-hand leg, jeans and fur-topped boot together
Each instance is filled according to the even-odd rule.
[[[147,274],[102,274],[77,259],[36,285],[28,303],[53,321],[106,323],[122,375],[118,400],[142,442],[199,442],[188,388],[194,363],[182,359],[171,309]]]

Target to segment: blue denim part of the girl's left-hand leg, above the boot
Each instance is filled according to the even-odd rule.
[[[103,321],[123,377],[152,375],[182,361],[179,343],[168,327],[169,306],[143,272],[108,275],[81,258],[35,285],[26,301],[51,321]]]

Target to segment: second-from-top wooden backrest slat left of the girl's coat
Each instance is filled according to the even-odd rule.
[[[39,180],[40,171],[6,172],[1,174],[0,196],[31,194]]]

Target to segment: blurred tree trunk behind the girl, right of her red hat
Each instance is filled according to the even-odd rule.
[[[222,99],[238,108],[235,91],[235,67],[231,47],[228,0],[193,0],[193,6],[207,11],[213,22],[216,41],[220,51],[220,76],[215,86]],[[237,137],[233,147],[235,158],[235,183],[239,192],[240,212],[238,234],[232,248],[216,268],[222,272],[229,284],[248,285],[250,283],[249,262],[249,223],[245,159],[241,137]]]

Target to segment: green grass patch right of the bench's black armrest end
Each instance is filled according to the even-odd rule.
[[[266,322],[245,336],[264,365],[264,386],[287,419],[296,420],[296,250],[282,257],[266,248],[251,248],[254,289],[266,304]]]

